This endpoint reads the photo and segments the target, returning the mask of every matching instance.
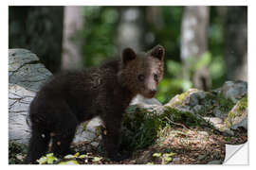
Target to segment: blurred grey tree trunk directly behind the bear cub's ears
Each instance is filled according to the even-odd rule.
[[[136,51],[144,48],[143,8],[122,7],[119,10],[118,47],[119,53],[126,47]]]

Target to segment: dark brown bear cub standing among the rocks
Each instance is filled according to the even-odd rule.
[[[102,142],[113,161],[119,154],[122,114],[138,93],[154,97],[163,76],[164,48],[156,45],[148,52],[135,53],[126,48],[120,59],[112,59],[99,68],[53,76],[30,104],[31,138],[27,163],[46,154],[50,139],[57,156],[70,153],[76,127],[100,116],[106,133]]]

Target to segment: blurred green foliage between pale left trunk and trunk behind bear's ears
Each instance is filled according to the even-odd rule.
[[[114,44],[117,24],[119,21],[118,8],[114,7],[84,7],[85,24],[81,31],[82,56],[85,67],[99,65],[106,57],[117,54]]]

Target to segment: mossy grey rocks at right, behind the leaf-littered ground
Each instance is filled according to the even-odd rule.
[[[175,95],[165,106],[201,116],[218,130],[233,135],[231,129],[247,129],[247,82],[227,81],[211,92],[190,89]]]

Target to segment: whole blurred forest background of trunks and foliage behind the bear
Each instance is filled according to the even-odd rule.
[[[166,49],[162,103],[247,80],[247,7],[9,7],[9,48],[32,51],[53,74],[156,44]]]

